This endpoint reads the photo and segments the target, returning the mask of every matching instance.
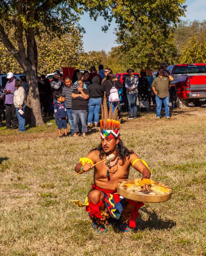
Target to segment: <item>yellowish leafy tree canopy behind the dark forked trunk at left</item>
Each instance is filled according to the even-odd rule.
[[[71,26],[70,32],[65,33],[60,38],[54,36],[52,31],[45,31],[42,25],[41,38],[37,37],[37,50],[38,50],[38,66],[37,74],[52,73],[56,69],[62,67],[77,67],[80,63],[80,56],[83,52],[82,34],[76,26]],[[14,27],[9,31],[9,39],[17,47],[15,42],[15,29]],[[24,44],[26,41],[24,40]],[[0,72],[7,73],[18,72],[22,73],[23,69],[14,58],[9,54],[7,48],[0,42]],[[58,57],[57,57],[58,56]]]

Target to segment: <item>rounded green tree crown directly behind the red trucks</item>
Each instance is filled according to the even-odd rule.
[[[137,24],[133,30],[116,31],[117,43],[120,44],[118,52],[124,53],[120,63],[133,69],[154,69],[162,61],[173,64],[177,58],[174,31],[167,28],[164,35],[163,29],[156,24]]]

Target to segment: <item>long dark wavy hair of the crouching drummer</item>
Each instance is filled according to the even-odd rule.
[[[104,149],[102,147],[102,143],[100,143],[98,147],[95,147],[92,150],[90,150],[90,152],[94,151],[94,150],[98,150],[100,152],[99,158],[103,160],[105,152],[104,152]],[[120,139],[119,139],[119,142],[117,144],[116,151],[117,151],[117,154],[119,155],[119,158],[123,160],[122,165],[125,164],[126,157],[129,158],[130,155],[134,153],[133,150],[128,150],[128,148],[126,148],[123,145],[123,142]]]

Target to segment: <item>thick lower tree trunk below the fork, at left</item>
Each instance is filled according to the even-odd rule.
[[[37,71],[35,66],[31,66],[27,71],[25,71],[25,75],[28,83],[26,123],[29,123],[29,127],[44,125],[41,114]]]

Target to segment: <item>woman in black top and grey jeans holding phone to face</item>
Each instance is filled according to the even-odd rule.
[[[82,129],[81,136],[86,136],[87,132],[87,113],[88,113],[88,102],[89,102],[89,91],[84,89],[84,82],[82,79],[77,81],[78,87],[71,93],[71,109],[72,117],[74,121],[74,137],[78,136],[78,118],[81,121]]]

